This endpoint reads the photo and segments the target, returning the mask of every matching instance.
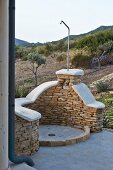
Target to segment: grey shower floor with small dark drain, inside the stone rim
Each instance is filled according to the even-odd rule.
[[[71,128],[68,126],[58,126],[58,125],[40,125],[39,128],[39,140],[66,140],[69,138],[73,138],[79,136],[84,131],[78,128]],[[49,136],[55,135],[55,136]]]

